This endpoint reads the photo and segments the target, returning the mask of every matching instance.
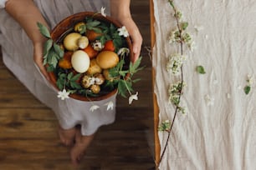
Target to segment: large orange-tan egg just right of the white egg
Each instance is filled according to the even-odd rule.
[[[102,69],[115,67],[119,62],[119,57],[115,52],[103,51],[96,57],[96,62]]]

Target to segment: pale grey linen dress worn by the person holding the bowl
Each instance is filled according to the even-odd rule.
[[[35,97],[50,107],[64,129],[81,125],[81,133],[90,135],[102,125],[115,121],[115,97],[102,101],[82,102],[72,98],[61,100],[58,92],[47,82],[33,62],[33,45],[27,34],[18,23],[11,18],[0,5],[0,45],[3,50],[3,62],[13,74],[18,77]],[[50,28],[54,28],[64,18],[79,12],[90,11],[100,13],[100,8],[105,7],[109,14],[109,1],[85,0],[35,0]],[[28,13],[24,13],[26,15]],[[21,13],[22,15],[22,13]],[[93,105],[98,109],[91,110]]]

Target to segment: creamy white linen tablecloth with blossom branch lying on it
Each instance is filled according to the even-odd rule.
[[[154,0],[156,44],[153,67],[160,122],[172,120],[174,107],[167,88],[174,81],[166,72],[167,57],[177,48],[168,43],[176,28],[167,0]],[[166,154],[163,170],[256,169],[256,87],[243,92],[248,74],[256,72],[255,0],[174,1],[189,23],[196,42],[183,65],[187,83]],[[206,74],[195,71],[202,65]],[[161,151],[167,133],[159,132]]]

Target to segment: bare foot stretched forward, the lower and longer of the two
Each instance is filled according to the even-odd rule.
[[[70,150],[70,158],[74,166],[78,166],[94,137],[95,134],[82,136],[80,129],[76,129],[74,147]]]

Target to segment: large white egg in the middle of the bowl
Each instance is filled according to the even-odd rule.
[[[86,72],[90,67],[90,57],[82,50],[77,50],[73,53],[71,64],[76,72]]]

